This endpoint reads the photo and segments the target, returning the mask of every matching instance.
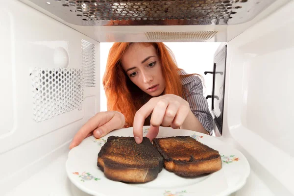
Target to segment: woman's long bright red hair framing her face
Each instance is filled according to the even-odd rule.
[[[133,126],[135,113],[144,103],[147,96],[125,74],[121,65],[124,52],[133,43],[118,42],[109,50],[106,70],[103,76],[103,86],[107,98],[107,110],[119,111],[124,115],[125,127]],[[140,43],[145,46],[153,46],[158,54],[166,87],[165,94],[174,94],[183,97],[179,68],[172,51],[163,43]],[[190,74],[189,74],[190,75]]]

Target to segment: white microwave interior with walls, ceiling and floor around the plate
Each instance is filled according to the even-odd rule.
[[[218,43],[200,73],[189,68],[209,84],[213,136],[250,164],[233,195],[294,195],[293,0],[3,0],[0,10],[0,195],[70,196],[68,146],[101,111],[113,42]]]

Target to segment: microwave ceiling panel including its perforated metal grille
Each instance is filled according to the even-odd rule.
[[[30,0],[83,26],[237,25],[275,0]]]

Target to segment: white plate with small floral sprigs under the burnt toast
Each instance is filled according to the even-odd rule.
[[[144,126],[144,136],[148,128],[149,126]],[[163,169],[155,180],[147,183],[126,184],[112,181],[97,167],[98,152],[111,135],[133,137],[133,129],[130,127],[116,130],[101,139],[91,136],[69,152],[67,175],[85,193],[94,196],[226,196],[239,190],[250,172],[245,156],[240,151],[227,147],[217,138],[190,130],[160,127],[157,138],[191,136],[218,150],[222,159],[221,170],[196,178],[183,178]]]

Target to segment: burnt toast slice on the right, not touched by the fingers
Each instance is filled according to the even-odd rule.
[[[221,155],[190,136],[153,139],[164,158],[164,167],[179,176],[195,177],[221,170]]]

